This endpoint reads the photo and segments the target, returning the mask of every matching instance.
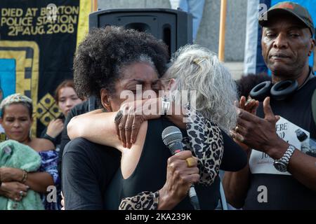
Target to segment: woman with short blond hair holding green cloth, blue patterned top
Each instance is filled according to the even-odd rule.
[[[26,172],[13,167],[1,167],[0,193],[11,200],[20,201],[27,194],[28,189],[41,193],[45,209],[60,209],[60,201],[48,202],[46,194],[48,186],[58,189],[60,179],[57,172],[58,153],[51,141],[33,138],[30,130],[33,122],[32,99],[16,93],[6,97],[0,104],[0,123],[4,127],[8,140],[18,141],[29,146],[41,157],[41,165],[36,172]],[[16,195],[19,193],[19,195]]]

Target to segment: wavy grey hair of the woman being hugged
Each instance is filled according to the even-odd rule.
[[[200,45],[185,45],[171,59],[164,80],[176,80],[176,90],[196,91],[196,110],[225,132],[236,126],[237,86],[218,57]]]

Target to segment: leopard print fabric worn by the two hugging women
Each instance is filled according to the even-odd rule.
[[[198,159],[199,183],[210,186],[218,175],[220,162],[223,158],[223,136],[220,128],[204,118],[200,113],[192,113],[187,107],[187,137],[183,138],[183,148],[192,151]],[[157,209],[159,190],[155,193],[142,192],[133,197],[121,200],[119,210]]]

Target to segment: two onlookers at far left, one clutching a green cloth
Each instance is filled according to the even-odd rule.
[[[1,101],[0,123],[6,139],[0,143],[0,209],[61,209],[60,132],[67,113],[82,102],[72,80],[58,85],[55,101],[62,116],[51,121],[41,138],[31,136],[32,99],[16,93]],[[51,186],[55,195],[50,199]]]

